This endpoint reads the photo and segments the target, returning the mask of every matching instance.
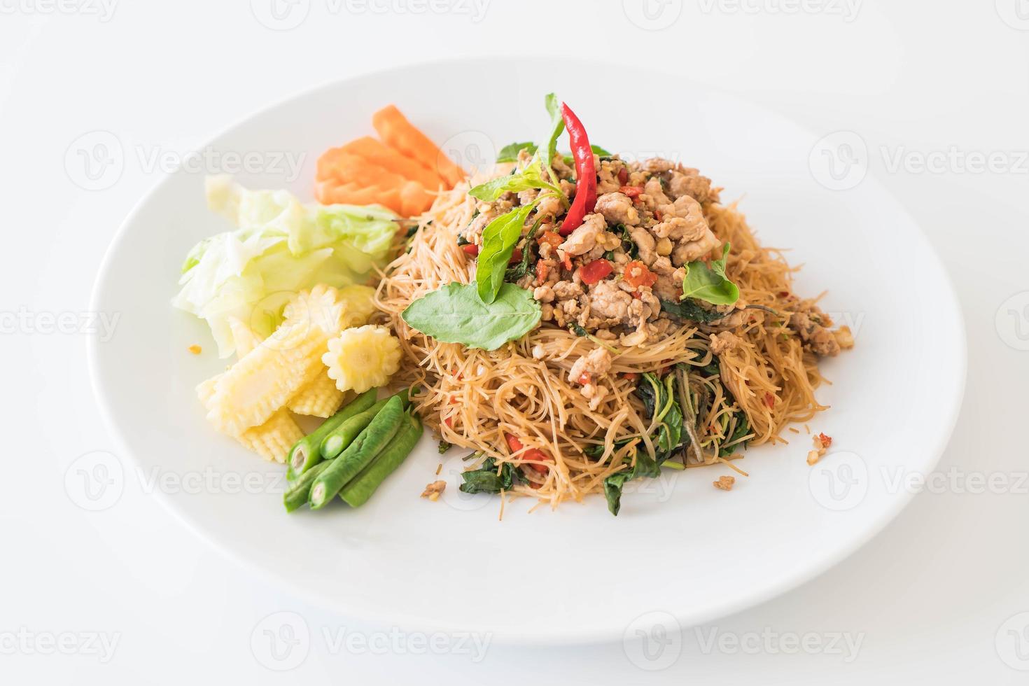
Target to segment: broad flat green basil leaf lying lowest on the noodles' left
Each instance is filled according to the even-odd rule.
[[[532,292],[504,284],[493,302],[483,302],[474,284],[447,284],[403,311],[403,321],[441,342],[496,350],[531,331],[542,315]]]

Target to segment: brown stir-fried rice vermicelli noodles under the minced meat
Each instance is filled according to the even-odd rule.
[[[732,329],[742,341],[718,357],[709,349],[710,329],[693,323],[669,329],[657,342],[632,348],[544,323],[495,351],[437,342],[412,329],[400,313],[413,300],[445,284],[473,278],[469,258],[457,244],[474,210],[467,190],[465,183],[440,194],[422,217],[410,250],[387,267],[376,304],[389,316],[407,360],[399,381],[421,388],[413,397],[415,405],[443,440],[498,464],[527,464],[511,456],[505,440],[510,434],[526,448],[553,457],[549,469],[523,470],[531,483],[516,485],[513,493],[552,506],[581,500],[602,492],[604,478],[626,469],[626,458],[631,462],[637,449],[652,455],[653,427],[634,394],[642,372],[677,363],[689,369],[688,402],[699,412],[701,439],[699,450],[688,448],[689,467],[723,460],[724,448],[733,447],[730,443],[783,441],[779,432],[787,424],[825,409],[814,395],[823,381],[816,358],[786,328],[790,312],[801,302],[792,296],[792,269],[778,250],[758,245],[735,204],[705,204],[705,217],[719,239],[732,243],[726,275],[739,286],[741,300],[764,309],[745,311],[747,321]],[[568,381],[568,372],[598,342],[609,347],[613,363],[602,382],[609,393],[591,409],[580,389]],[[706,400],[695,402],[702,397]],[[739,433],[741,409],[749,431],[731,440]],[[603,446],[603,454],[588,457],[583,450],[590,446]],[[591,454],[594,450],[599,455],[599,447]]]

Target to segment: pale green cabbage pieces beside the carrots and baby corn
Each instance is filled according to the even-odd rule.
[[[227,175],[208,177],[206,188],[208,207],[237,228],[193,246],[172,304],[207,321],[220,357],[236,352],[230,318],[270,335],[294,293],[363,283],[397,230],[396,215],[379,205],[305,205],[287,190],[248,190]]]

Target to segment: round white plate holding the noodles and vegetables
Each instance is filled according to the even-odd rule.
[[[498,521],[496,499],[458,493],[456,456],[447,497],[418,497],[439,463],[426,436],[365,507],[287,515],[274,478],[281,468],[215,434],[193,393],[223,362],[203,323],[169,300],[189,247],[226,226],[205,207],[203,176],[184,170],[136,208],[111,246],[94,308],[119,313],[119,326],[90,357],[123,455],[143,477],[173,474],[156,492],[220,550],[322,606],[383,624],[511,642],[612,640],[634,621],[666,617],[647,613],[703,622],[812,578],[911,499],[897,474],[933,468],[960,405],[964,333],[944,270],[900,205],[872,178],[827,189],[815,178],[823,178],[822,153],[812,154],[819,136],[752,104],[649,70],[553,67],[454,62],[333,83],[248,118],[211,146],[306,154],[289,183],[273,155],[261,160],[272,173],[240,179],[310,197],[318,154],[372,133],[371,113],[387,103],[468,164],[543,135],[543,95],[557,91],[594,143],[680,158],[723,186],[723,197],[745,196],[760,238],[805,265],[800,292],[828,290],[825,309],[857,339],[823,364],[833,385],[819,395],[832,409],[811,428],[833,437],[830,454],[808,467],[802,427],[785,432],[790,445],[751,450],[739,463],[750,478],[738,478],[732,493],[711,485],[731,473],[722,467],[666,471],[631,489],[616,518],[595,498],[531,515],[516,504]],[[612,99],[605,91],[613,83],[644,102]],[[646,94],[661,98],[648,104]],[[204,354],[186,352],[191,344]],[[239,479],[254,472],[268,480],[250,476],[240,493]],[[198,475],[199,489],[174,483],[187,477],[196,486]]]

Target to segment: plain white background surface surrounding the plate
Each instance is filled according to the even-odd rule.
[[[354,624],[271,586],[194,537],[137,479],[127,480],[112,507],[77,506],[66,493],[66,470],[83,454],[115,449],[94,407],[88,334],[11,327],[8,317],[0,335],[7,438],[0,680],[272,683],[283,676],[268,664],[291,664],[252,650],[251,638],[260,645],[261,620],[282,611],[297,613],[311,635],[294,653],[303,662],[285,675],[291,681],[1029,680],[1018,671],[1029,670],[1029,615],[1018,616],[1029,612],[1029,2],[651,0],[646,20],[639,0],[483,0],[483,14],[458,0],[436,0],[432,7],[445,12],[416,12],[403,0],[298,1],[301,12],[309,5],[307,19],[282,31],[257,19],[268,23],[268,0],[121,0],[106,9],[99,0],[57,7],[0,0],[0,313],[42,323],[44,313],[86,311],[108,243],[162,176],[146,158],[182,155],[298,91],[461,56],[544,53],[556,69],[562,57],[582,53],[641,70],[660,65],[681,75],[669,88],[710,83],[813,131],[854,132],[864,142],[870,173],[921,223],[959,292],[967,393],[938,468],[957,476],[917,497],[836,569],[770,603],[687,628],[661,664],[643,662],[672,662],[664,671],[641,670],[620,642],[493,644],[477,661],[461,650],[374,654],[354,643],[334,647],[333,637],[346,630],[375,641],[381,631],[389,638],[389,627]],[[625,110],[626,125],[645,125],[651,106],[660,111],[660,93],[590,76],[609,91],[612,108]],[[497,79],[469,87],[502,98],[503,74]],[[108,187],[86,190],[75,146],[96,131],[120,142],[125,169],[101,184]],[[1000,153],[992,170],[969,169],[990,153]],[[939,166],[920,168],[923,158]],[[889,236],[882,249],[890,250]],[[896,296],[917,308],[934,294]],[[923,335],[932,346],[933,332]],[[977,475],[992,475],[995,488],[977,493]],[[516,602],[532,598],[530,583]],[[94,633],[116,642],[113,654],[90,644]],[[822,646],[842,634],[860,648],[856,655],[844,643],[815,654],[793,649],[787,635],[808,633]],[[709,648],[712,634],[747,647]],[[52,650],[47,640],[62,636],[79,647]]]

